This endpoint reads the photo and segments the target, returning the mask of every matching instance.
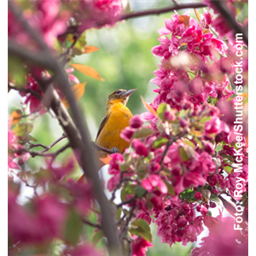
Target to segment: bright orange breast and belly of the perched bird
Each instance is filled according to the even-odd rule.
[[[113,104],[108,110],[108,120],[97,137],[96,144],[108,149],[118,148],[119,153],[122,154],[130,143],[123,140],[120,133],[129,125],[131,117],[132,113],[129,108],[126,108],[122,103]],[[103,152],[101,154],[106,156]]]

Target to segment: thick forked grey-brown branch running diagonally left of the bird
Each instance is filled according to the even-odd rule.
[[[26,31],[32,36],[33,39],[35,39],[38,45],[40,45],[40,47],[44,49],[43,54],[39,53],[38,55],[32,55],[29,54],[28,49],[22,48],[23,52],[24,50],[26,50],[26,55],[24,55],[20,52],[20,49],[16,50],[14,49],[13,45],[9,44],[9,52],[15,55],[19,55],[20,57],[39,64],[43,67],[49,68],[55,73],[55,81],[60,86],[64,96],[66,96],[67,98],[67,102],[69,103],[70,109],[73,113],[73,119],[76,125],[73,124],[73,120],[67,113],[67,109],[64,108],[63,104],[61,103],[60,98],[57,92],[54,90],[53,86],[49,86],[52,95],[50,107],[53,109],[56,116],[58,117],[63,130],[67,134],[73,150],[79,149],[84,175],[85,177],[88,177],[89,180],[93,183],[96,200],[98,201],[102,211],[102,230],[108,239],[109,253],[110,255],[122,255],[117,229],[114,225],[113,207],[111,207],[106,195],[102,190],[102,182],[97,174],[98,166],[96,165],[95,156],[91,150],[87,127],[84,125],[84,115],[82,115],[73,96],[73,91],[67,79],[67,73],[63,70],[61,64],[51,54],[47,45],[44,44],[44,40],[40,36],[38,36],[38,32],[32,29],[32,27],[29,26],[26,20],[21,17],[20,12],[18,12],[14,8],[10,0],[8,4],[9,9],[15,15],[15,18],[19,20],[22,26],[26,28]],[[40,61],[38,61],[38,59]],[[46,91],[48,89],[48,84],[41,84],[43,85],[44,91]]]

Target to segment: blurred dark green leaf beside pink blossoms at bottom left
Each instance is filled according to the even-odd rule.
[[[70,210],[69,216],[67,218],[66,228],[64,232],[65,240],[68,243],[76,244],[79,242],[79,236],[82,231],[81,218],[78,212],[73,209]]]

